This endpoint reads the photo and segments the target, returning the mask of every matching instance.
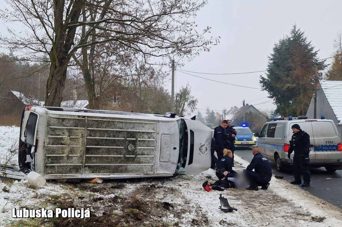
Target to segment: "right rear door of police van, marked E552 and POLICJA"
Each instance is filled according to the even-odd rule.
[[[314,134],[314,151],[316,162],[336,162],[342,158],[342,152],[337,150],[341,141],[338,132],[331,121],[312,121]]]

